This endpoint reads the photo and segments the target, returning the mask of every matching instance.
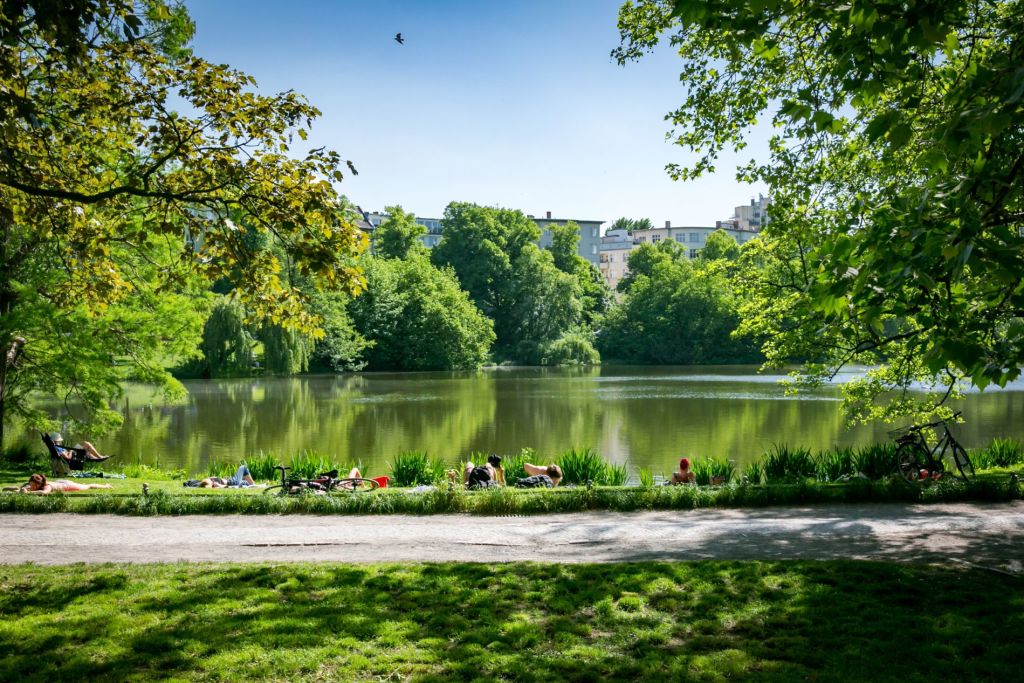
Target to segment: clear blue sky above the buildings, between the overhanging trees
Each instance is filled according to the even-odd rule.
[[[664,117],[683,99],[679,60],[666,49],[614,63],[618,0],[186,5],[197,54],[324,113],[309,141],[355,164],[339,188],[364,209],[437,217],[470,201],[709,225],[765,191],[736,181],[735,159],[699,181],[668,177],[667,163],[687,159],[665,139]]]

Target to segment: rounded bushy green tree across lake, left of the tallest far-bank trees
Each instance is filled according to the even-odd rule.
[[[449,268],[423,254],[362,261],[367,291],[352,300],[355,329],[371,344],[372,370],[477,368],[495,333]]]

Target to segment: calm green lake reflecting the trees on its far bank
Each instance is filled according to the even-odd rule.
[[[203,471],[210,459],[239,461],[304,450],[376,475],[402,451],[455,462],[472,452],[542,459],[593,446],[633,468],[667,472],[681,455],[739,463],[773,443],[827,449],[886,440],[891,425],[847,429],[838,388],[784,395],[779,376],[753,367],[501,369],[478,373],[371,373],[189,381],[188,397],[166,404],[130,386],[120,432],[100,450]],[[1024,384],[969,395],[969,447],[996,436],[1024,439]]]

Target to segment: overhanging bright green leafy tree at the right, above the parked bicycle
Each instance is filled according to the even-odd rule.
[[[849,364],[854,418],[946,411],[962,381],[1024,361],[1024,3],[1021,0],[641,0],[621,61],[667,37],[687,94],[669,115],[713,170],[771,119],[772,221],[746,250],[745,330],[814,384]],[[936,390],[922,398],[925,385]]]

